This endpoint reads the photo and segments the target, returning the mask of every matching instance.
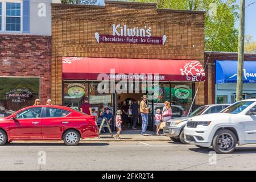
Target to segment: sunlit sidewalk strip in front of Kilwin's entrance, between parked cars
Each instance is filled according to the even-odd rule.
[[[120,139],[111,138],[109,133],[101,133],[100,138],[88,138],[82,141],[170,141],[170,137],[156,135],[154,132],[148,131],[149,136],[142,136],[141,131],[121,131]],[[115,135],[115,133],[113,133]]]

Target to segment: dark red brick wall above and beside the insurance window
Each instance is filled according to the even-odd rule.
[[[0,35],[0,76],[40,77],[40,98],[51,97],[51,36]]]

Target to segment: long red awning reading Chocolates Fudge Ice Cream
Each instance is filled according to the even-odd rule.
[[[110,72],[112,78],[115,75],[115,78],[128,79],[131,74],[138,74],[152,80],[159,78],[160,81],[205,80],[204,68],[196,60],[63,57],[64,80],[97,80],[100,73],[106,73],[110,78]]]

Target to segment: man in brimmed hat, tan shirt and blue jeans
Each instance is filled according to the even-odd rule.
[[[142,131],[141,131],[141,134],[143,136],[148,136],[148,134],[146,133],[147,131],[147,125],[148,125],[148,113],[149,113],[149,110],[150,110],[150,107],[147,106],[147,96],[144,95],[142,97],[142,101],[141,101],[141,104],[139,105],[139,111],[141,113],[141,117],[142,117]]]

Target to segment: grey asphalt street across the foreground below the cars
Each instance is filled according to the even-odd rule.
[[[256,145],[209,152],[170,141],[11,142],[0,147],[0,170],[256,170]]]

